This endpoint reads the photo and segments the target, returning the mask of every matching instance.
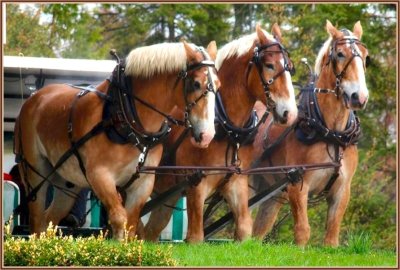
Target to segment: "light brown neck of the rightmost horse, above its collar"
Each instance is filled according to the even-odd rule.
[[[317,88],[334,89],[336,77],[331,68],[322,70],[316,82]],[[317,94],[317,101],[322,117],[329,129],[343,131],[346,128],[350,110],[346,108],[343,97],[337,98],[333,94]]]

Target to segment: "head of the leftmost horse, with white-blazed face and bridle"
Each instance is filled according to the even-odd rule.
[[[214,67],[217,46],[215,41],[210,42],[206,50],[185,41],[183,45],[187,56],[183,75],[185,119],[192,128],[191,142],[206,148],[215,135],[215,93],[221,84]]]

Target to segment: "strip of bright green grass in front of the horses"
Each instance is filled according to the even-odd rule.
[[[370,266],[395,267],[393,251],[352,247],[302,249],[291,244],[244,243],[175,244],[178,266]]]

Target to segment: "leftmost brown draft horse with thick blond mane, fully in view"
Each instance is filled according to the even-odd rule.
[[[114,238],[123,237],[125,226],[134,235],[154,184],[137,166],[159,164],[161,139],[170,131],[165,117],[173,120],[168,114],[186,107],[196,147],[207,147],[215,134],[216,50],[215,42],[208,53],[186,42],[137,48],[96,89],[55,84],[30,97],[16,123],[15,146],[31,194],[31,231],[58,224],[74,195],[90,187],[108,211]],[[45,210],[49,183],[57,188]]]

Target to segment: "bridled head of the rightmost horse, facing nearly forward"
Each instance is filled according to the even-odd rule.
[[[327,20],[326,29],[330,37],[318,55],[316,74],[326,72],[326,78],[335,76],[330,79],[331,87],[334,87],[338,97],[343,97],[346,107],[364,109],[368,101],[365,70],[369,56],[366,46],[361,43],[361,24],[358,21],[351,32],[338,30]]]

